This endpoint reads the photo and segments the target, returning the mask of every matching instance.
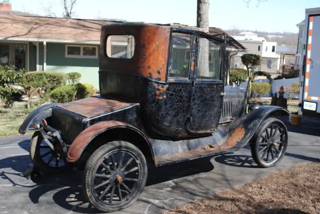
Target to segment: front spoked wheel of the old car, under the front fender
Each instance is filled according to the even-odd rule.
[[[287,144],[288,134],[285,124],[275,117],[268,117],[261,122],[251,138],[252,158],[259,167],[274,166],[284,156]]]

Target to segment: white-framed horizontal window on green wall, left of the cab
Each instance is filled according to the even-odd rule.
[[[98,47],[91,45],[65,45],[65,57],[98,58]]]

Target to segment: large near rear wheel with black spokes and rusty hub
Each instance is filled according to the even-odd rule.
[[[116,156],[117,153],[119,156]],[[131,162],[124,159],[125,155],[131,156],[129,158]],[[107,162],[107,160],[110,161]],[[131,163],[136,166],[131,166],[125,171]],[[135,177],[132,177],[133,174]],[[146,179],[147,164],[143,153],[129,142],[111,141],[97,148],[87,160],[84,167],[83,192],[94,207],[112,212],[126,208],[135,202],[145,186]],[[95,181],[101,182],[95,185]],[[127,191],[125,195],[123,191]],[[110,192],[109,197],[108,192]],[[114,198],[118,200],[113,200]]]

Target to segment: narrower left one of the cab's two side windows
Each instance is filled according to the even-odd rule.
[[[191,35],[172,32],[171,66],[169,77],[189,77]]]

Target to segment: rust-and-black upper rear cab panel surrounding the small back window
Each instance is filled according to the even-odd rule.
[[[106,70],[136,73],[152,80],[165,81],[170,40],[170,26],[154,24],[105,25],[101,28],[100,72]],[[134,37],[134,53],[130,59],[106,55],[109,33]]]

